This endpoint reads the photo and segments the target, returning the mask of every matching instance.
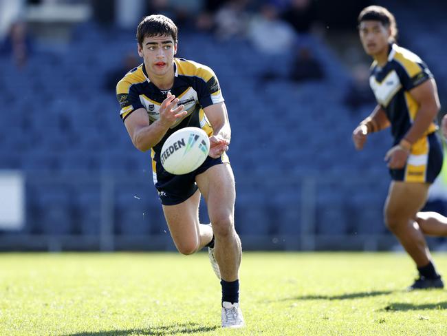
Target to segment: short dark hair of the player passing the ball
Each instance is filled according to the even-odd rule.
[[[177,25],[164,15],[149,15],[142,19],[137,28],[137,41],[142,45],[145,37],[171,35],[177,43]]]

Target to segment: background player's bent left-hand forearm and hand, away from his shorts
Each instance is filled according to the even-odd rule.
[[[354,146],[358,151],[362,150],[368,134],[379,132],[390,125],[384,109],[377,105],[373,112],[353,130],[352,140]]]

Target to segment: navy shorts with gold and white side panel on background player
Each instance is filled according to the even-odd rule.
[[[403,169],[389,169],[391,178],[404,182],[433,183],[442,168],[442,145],[436,133],[429,134],[411,147]]]

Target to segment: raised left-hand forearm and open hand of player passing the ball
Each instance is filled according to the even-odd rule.
[[[147,151],[162,140],[169,127],[174,125],[179,118],[183,118],[188,113],[184,110],[184,105],[177,105],[178,98],[168,93],[168,96],[160,106],[160,118],[154,123],[149,123],[146,109],[140,108],[130,114],[124,125],[132,139],[133,145],[140,151]]]

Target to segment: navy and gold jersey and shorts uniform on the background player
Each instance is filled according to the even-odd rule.
[[[397,145],[410,129],[419,111],[419,105],[409,93],[417,85],[432,78],[427,65],[413,52],[392,44],[388,63],[379,67],[371,65],[369,84],[375,98],[386,112],[391,123],[394,145]],[[405,182],[433,182],[442,166],[442,150],[432,122],[424,135],[411,146],[403,169],[391,169],[393,180]]]

